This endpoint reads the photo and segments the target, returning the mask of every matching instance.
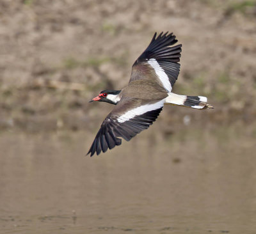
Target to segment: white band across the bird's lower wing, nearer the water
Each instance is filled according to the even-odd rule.
[[[159,109],[163,107],[163,105],[164,105],[164,99],[159,102],[155,102],[154,104],[140,105],[139,107],[131,109],[125,112],[124,114],[122,114],[121,116],[119,116],[117,121],[119,123],[124,123],[125,121],[131,120],[135,116],[147,113],[148,111],[154,111],[156,109]]]

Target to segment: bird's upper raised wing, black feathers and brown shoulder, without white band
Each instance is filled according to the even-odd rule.
[[[157,33],[154,34],[147,49],[141,54],[141,56],[132,65],[131,81],[136,79],[147,79],[144,71],[148,70],[145,66],[150,66],[148,61],[156,59],[160,68],[168,76],[171,86],[175,84],[180,72],[180,52],[182,45],[174,45],[178,42],[176,36],[173,33],[168,35],[168,32],[160,33],[157,37]],[[160,78],[160,77],[159,77]],[[160,78],[161,79],[161,78]]]

